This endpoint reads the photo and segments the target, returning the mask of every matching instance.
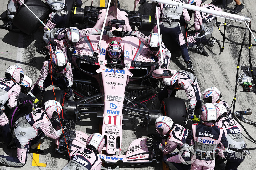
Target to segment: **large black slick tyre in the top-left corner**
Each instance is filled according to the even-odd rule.
[[[44,21],[49,15],[47,5],[41,0],[26,0],[25,4],[41,21]],[[23,33],[32,35],[41,25],[41,22],[28,10],[28,8],[22,4],[20,9],[14,15],[12,24]]]

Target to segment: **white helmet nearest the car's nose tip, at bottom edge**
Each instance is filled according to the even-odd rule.
[[[100,133],[93,133],[90,135],[86,141],[86,148],[100,153],[105,145],[105,138]]]

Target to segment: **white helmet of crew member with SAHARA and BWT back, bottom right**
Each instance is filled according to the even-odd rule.
[[[215,122],[218,118],[216,106],[212,103],[205,103],[201,108],[200,116],[204,122]]]

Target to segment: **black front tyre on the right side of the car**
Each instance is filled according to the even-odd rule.
[[[182,116],[187,113],[187,109],[181,98],[164,98],[161,102],[160,111],[163,116],[169,116],[173,120],[174,124],[184,126],[183,121],[186,119]]]

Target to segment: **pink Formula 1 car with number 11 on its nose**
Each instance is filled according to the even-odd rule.
[[[103,119],[102,134],[108,142],[99,157],[104,163],[152,162],[154,152],[148,151],[146,138],[134,140],[127,149],[126,155],[122,155],[122,121],[128,120],[129,116],[138,118],[143,120],[148,128],[148,125],[154,124],[159,116],[168,115],[175,123],[182,124],[184,120],[182,115],[186,113],[186,106],[180,98],[166,98],[162,101],[159,110],[149,109],[151,100],[156,97],[159,89],[159,80],[152,77],[152,72],[158,68],[158,63],[139,39],[120,37],[123,31],[132,31],[129,23],[134,24],[134,18],[131,17],[130,20],[128,13],[133,11],[127,13],[121,10],[117,0],[113,0],[111,4],[106,27],[112,31],[114,37],[103,36],[98,48],[100,35],[87,36],[69,55],[69,61],[74,66],[72,90],[77,105],[71,108],[81,119],[88,113],[97,114],[99,119]],[[91,8],[96,9],[96,7]],[[99,15],[94,27],[102,29],[107,9],[97,9]],[[136,14],[136,16],[140,15]],[[114,40],[122,45],[122,64],[108,63],[106,60],[108,44]],[[68,110],[72,112],[70,108]],[[72,141],[77,141],[74,139],[79,137],[71,138],[68,140],[72,143],[70,146],[76,145]],[[65,152],[65,149],[60,151],[62,147],[60,143],[59,140],[57,150]]]

